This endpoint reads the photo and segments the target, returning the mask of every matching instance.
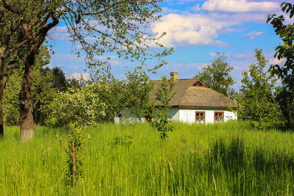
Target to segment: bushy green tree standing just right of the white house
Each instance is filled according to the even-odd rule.
[[[258,128],[262,129],[265,128],[264,123],[274,121],[278,113],[273,96],[276,78],[265,71],[268,61],[261,49],[255,49],[255,58],[257,63],[251,64],[249,71],[242,73],[241,98],[238,102],[244,109],[239,108],[239,117],[258,122]]]

